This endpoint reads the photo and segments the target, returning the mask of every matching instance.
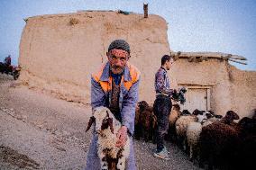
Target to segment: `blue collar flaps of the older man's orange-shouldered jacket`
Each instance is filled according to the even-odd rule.
[[[124,79],[125,82],[132,80],[128,65],[129,65],[129,63],[127,62],[126,66],[124,67],[124,70],[123,70],[123,79]],[[110,63],[107,62],[105,64],[105,67],[103,68],[103,73],[100,76],[100,80],[104,81],[104,82],[107,82],[109,80],[109,76],[110,76],[109,72],[110,72]]]

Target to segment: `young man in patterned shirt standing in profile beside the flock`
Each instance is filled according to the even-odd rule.
[[[156,100],[154,102],[154,114],[158,118],[157,150],[154,157],[169,160],[169,152],[164,146],[163,140],[169,128],[169,113],[171,110],[171,94],[173,90],[169,86],[167,71],[173,64],[173,58],[164,55],[161,58],[161,67],[155,75]]]

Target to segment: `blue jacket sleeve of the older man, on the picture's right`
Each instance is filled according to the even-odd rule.
[[[135,107],[139,95],[139,84],[140,79],[131,86],[128,94],[123,96],[123,108],[121,111],[122,125],[126,126],[132,135],[134,131]]]

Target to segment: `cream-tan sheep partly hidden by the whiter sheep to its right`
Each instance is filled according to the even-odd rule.
[[[178,143],[181,142],[182,148],[187,150],[187,125],[190,122],[197,121],[195,115],[180,116],[175,123],[175,129],[177,133]]]

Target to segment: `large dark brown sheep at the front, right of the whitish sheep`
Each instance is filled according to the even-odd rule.
[[[199,166],[207,162],[209,169],[231,168],[238,142],[238,131],[228,124],[214,122],[203,127],[199,137]]]

